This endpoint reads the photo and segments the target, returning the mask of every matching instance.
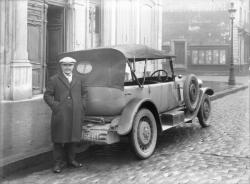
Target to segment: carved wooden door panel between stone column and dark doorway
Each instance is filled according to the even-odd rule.
[[[45,64],[45,7],[41,2],[29,0],[28,2],[28,58],[32,65],[32,92],[42,93],[44,87]]]

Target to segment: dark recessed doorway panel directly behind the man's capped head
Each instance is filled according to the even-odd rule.
[[[58,54],[65,50],[65,9],[49,6],[47,20],[47,77],[51,77],[58,69]]]

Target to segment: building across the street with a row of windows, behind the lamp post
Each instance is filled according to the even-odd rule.
[[[163,1],[163,49],[176,53],[177,68],[197,73],[228,73],[230,2]],[[237,9],[233,49],[235,71],[246,73],[249,66],[249,29],[246,29],[249,27],[249,0],[234,0],[234,4]],[[244,26],[240,23],[243,18]]]

